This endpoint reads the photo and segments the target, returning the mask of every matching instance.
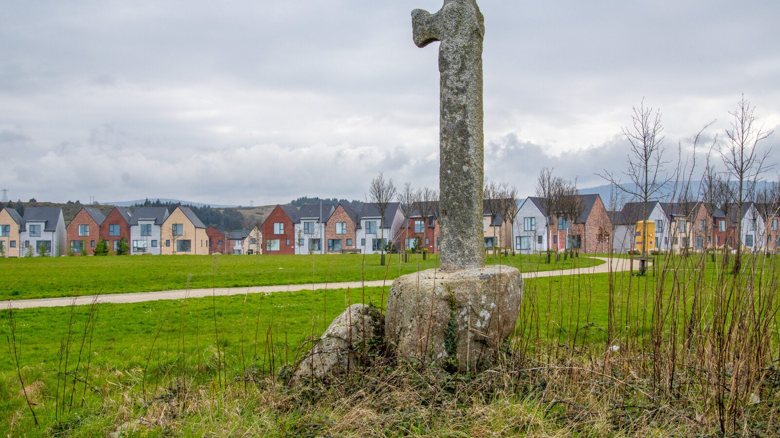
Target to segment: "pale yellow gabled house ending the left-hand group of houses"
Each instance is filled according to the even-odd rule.
[[[162,255],[208,255],[206,226],[190,207],[176,207],[161,228]]]

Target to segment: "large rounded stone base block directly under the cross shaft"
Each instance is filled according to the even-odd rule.
[[[491,366],[522,301],[523,279],[513,267],[408,274],[390,289],[385,341],[396,356],[424,363]]]

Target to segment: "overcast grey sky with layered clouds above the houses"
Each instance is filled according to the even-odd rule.
[[[378,171],[438,186],[441,0],[9,2],[0,189],[16,200],[365,198]],[[780,125],[780,2],[481,0],[486,175],[532,194],[626,161],[644,98],[666,144],[728,127],[741,94]],[[780,129],[768,140],[780,154]],[[774,178],[774,174],[771,175]]]

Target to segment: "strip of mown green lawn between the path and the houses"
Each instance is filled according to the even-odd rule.
[[[241,288],[275,284],[392,280],[438,266],[438,257],[410,256],[399,263],[378,255],[312,256],[105,256],[0,259],[0,300],[166,291]],[[488,256],[523,272],[589,267],[601,260],[579,257],[542,263],[539,256]]]

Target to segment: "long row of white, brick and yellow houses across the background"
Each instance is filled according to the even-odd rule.
[[[636,224],[654,225],[651,246],[663,250],[704,251],[741,242],[760,251],[780,247],[777,212],[761,214],[761,204],[745,203],[725,212],[692,203],[626,203],[608,211],[598,195],[580,195],[576,217],[545,210],[543,199],[530,196],[516,203],[516,214],[505,218],[484,210],[486,248],[512,248],[518,253],[547,249],[578,249],[583,253],[625,253],[636,247]],[[487,206],[487,203],[486,203]],[[570,216],[570,215],[568,215]],[[377,203],[360,209],[349,203],[296,208],[277,205],[260,227],[251,231],[221,231],[206,227],[188,207],[115,207],[108,216],[83,207],[66,226],[58,207],[29,207],[23,217],[11,208],[0,210],[0,253],[5,256],[94,253],[100,239],[116,251],[122,238],[130,254],[335,254],[379,253],[395,248],[438,253],[440,227],[437,203],[416,203],[406,215],[399,203],[382,212]]]

